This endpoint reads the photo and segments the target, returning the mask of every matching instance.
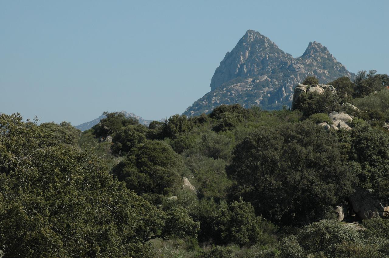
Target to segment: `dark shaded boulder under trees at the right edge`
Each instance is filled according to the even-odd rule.
[[[389,218],[389,204],[375,199],[371,190],[358,188],[349,199],[352,209],[363,220],[376,217]]]

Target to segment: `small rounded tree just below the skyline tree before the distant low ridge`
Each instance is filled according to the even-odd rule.
[[[128,125],[119,129],[112,137],[112,153],[129,152],[135,145],[146,140],[147,128],[144,125]]]

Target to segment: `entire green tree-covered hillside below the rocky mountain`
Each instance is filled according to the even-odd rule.
[[[1,114],[0,257],[389,257],[389,77],[329,84],[85,132]]]

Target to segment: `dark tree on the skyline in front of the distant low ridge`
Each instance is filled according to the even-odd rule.
[[[100,123],[92,127],[93,134],[96,137],[105,138],[108,135],[118,132],[122,127],[139,124],[136,118],[126,118],[123,113],[104,112],[103,115],[105,115],[106,118],[101,119]]]

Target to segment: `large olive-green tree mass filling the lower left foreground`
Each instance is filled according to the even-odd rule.
[[[161,211],[114,180],[92,153],[39,145],[45,127],[4,114],[0,124],[5,257],[152,257],[146,241],[162,228]]]

